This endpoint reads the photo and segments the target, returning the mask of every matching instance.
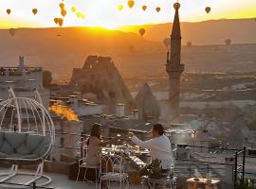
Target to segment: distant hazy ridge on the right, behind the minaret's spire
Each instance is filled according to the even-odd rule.
[[[162,42],[170,36],[172,24],[123,26],[120,30],[136,32],[145,28],[145,39]],[[223,19],[199,23],[181,23],[183,43],[192,42],[195,45],[223,44],[226,39],[232,43],[256,43],[255,19]]]

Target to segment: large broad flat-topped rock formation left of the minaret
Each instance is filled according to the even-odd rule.
[[[133,106],[133,98],[110,57],[89,56],[82,68],[74,68],[69,87],[82,94],[95,94],[112,111],[118,103]]]

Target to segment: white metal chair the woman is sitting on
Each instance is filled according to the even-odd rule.
[[[83,140],[82,142],[80,142],[80,144],[85,144],[85,142],[87,141],[87,139]],[[86,157],[87,153],[88,153],[88,146],[86,145],[82,145],[82,149],[85,151],[84,156]],[[83,175],[83,180],[82,181],[86,181],[86,182],[94,182],[94,180],[88,180],[86,178],[87,175],[87,171],[88,169],[94,169],[95,172],[95,187],[98,188],[98,182],[99,182],[99,172],[100,172],[100,166],[94,166],[94,165],[90,165],[84,162],[85,157],[82,157],[82,159],[79,161],[79,172],[78,172],[78,176],[77,176],[77,181],[79,181],[80,178],[80,174],[81,174],[81,169],[84,169],[84,175]]]

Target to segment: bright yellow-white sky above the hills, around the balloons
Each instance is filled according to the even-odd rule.
[[[52,27],[54,18],[62,18],[60,3],[67,14],[63,26],[103,26],[116,28],[127,25],[159,24],[174,19],[174,0],[134,0],[130,9],[127,0],[0,0],[0,28]],[[211,19],[256,18],[256,0],[179,0],[183,22],[200,22]],[[119,10],[118,6],[123,5]],[[147,6],[143,11],[141,7]],[[85,17],[79,19],[76,12]],[[159,7],[159,12],[155,8]],[[209,14],[205,8],[210,7]],[[11,9],[10,14],[7,9]],[[32,9],[38,9],[33,15]]]

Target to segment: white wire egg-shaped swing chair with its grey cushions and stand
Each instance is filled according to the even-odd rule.
[[[43,175],[43,168],[55,141],[55,129],[40,94],[37,90],[34,94],[34,99],[16,97],[9,88],[9,99],[0,102],[0,161],[12,164],[9,173],[0,174],[0,182],[23,175],[32,177],[24,185],[45,179],[39,184],[42,186],[51,181]],[[38,164],[36,173],[19,172],[18,166],[24,164]]]

